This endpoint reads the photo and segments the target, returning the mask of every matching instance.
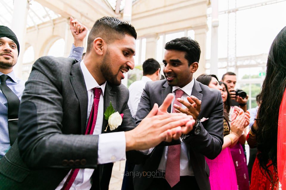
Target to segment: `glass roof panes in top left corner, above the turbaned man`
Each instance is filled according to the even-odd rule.
[[[60,17],[52,10],[43,7],[38,2],[32,0],[29,3],[27,16],[27,27],[35,26],[40,23]],[[0,25],[11,27],[13,16],[13,0],[0,0],[0,7],[4,7],[0,12]]]

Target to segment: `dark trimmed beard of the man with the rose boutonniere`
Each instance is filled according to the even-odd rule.
[[[117,80],[117,75],[116,74],[112,74],[112,66],[110,63],[110,58],[109,58],[109,51],[107,50],[106,55],[104,56],[103,59],[103,63],[100,66],[100,71],[102,73],[102,76],[105,78],[105,80],[112,84],[112,85],[116,85],[119,86],[121,84],[121,80]],[[120,72],[120,71],[119,71]]]

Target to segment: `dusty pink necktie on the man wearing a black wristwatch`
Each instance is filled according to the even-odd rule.
[[[177,101],[177,98],[181,98],[183,94],[184,91],[179,89],[176,90],[174,104],[182,106],[182,104]],[[172,113],[175,113],[174,107]],[[175,186],[180,181],[180,155],[181,155],[181,145],[168,146],[165,179],[167,180],[167,182],[171,187]]]

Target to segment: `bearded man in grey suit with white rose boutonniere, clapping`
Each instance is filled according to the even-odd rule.
[[[135,128],[121,80],[134,67],[136,36],[128,23],[103,17],[90,31],[83,61],[35,62],[19,109],[18,142],[0,161],[0,189],[100,189],[101,164],[139,163],[145,155],[134,150],[192,130],[195,121],[186,114],[157,115],[172,95]]]

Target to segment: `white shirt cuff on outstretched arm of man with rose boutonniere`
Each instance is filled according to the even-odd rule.
[[[103,133],[98,139],[98,164],[126,159],[125,132]]]

